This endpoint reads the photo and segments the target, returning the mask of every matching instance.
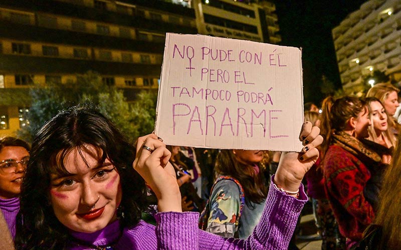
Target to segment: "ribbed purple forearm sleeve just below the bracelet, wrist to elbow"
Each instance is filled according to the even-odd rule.
[[[271,179],[269,194],[259,224],[253,236],[268,249],[287,249],[301,210],[308,201],[304,186],[299,187],[299,198],[290,196],[273,186]],[[268,229],[268,230],[266,230]]]

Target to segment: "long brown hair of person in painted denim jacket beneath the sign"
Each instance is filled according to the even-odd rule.
[[[252,165],[238,161],[233,149],[222,149],[217,155],[215,171],[222,175],[236,178],[244,188],[245,201],[250,205],[262,202],[268,193],[265,178],[262,173],[257,174]]]

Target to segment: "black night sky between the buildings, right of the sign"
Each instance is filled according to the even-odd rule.
[[[280,45],[302,47],[304,100],[320,104],[322,75],[341,86],[333,27],[366,0],[275,0],[279,19]]]

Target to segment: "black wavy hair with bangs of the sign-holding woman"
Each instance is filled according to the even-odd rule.
[[[61,111],[37,131],[22,183],[17,215],[17,249],[67,249],[68,229],[55,216],[50,203],[50,174],[68,172],[64,159],[85,144],[101,149],[120,175],[122,200],[118,209],[121,229],[138,223],[146,207],[145,182],[133,169],[135,148],[104,115],[90,104]],[[124,216],[121,212],[124,211]]]

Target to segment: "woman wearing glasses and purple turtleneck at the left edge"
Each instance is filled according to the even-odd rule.
[[[20,209],[22,178],[29,160],[30,146],[14,137],[0,139],[0,208],[13,238]]]

